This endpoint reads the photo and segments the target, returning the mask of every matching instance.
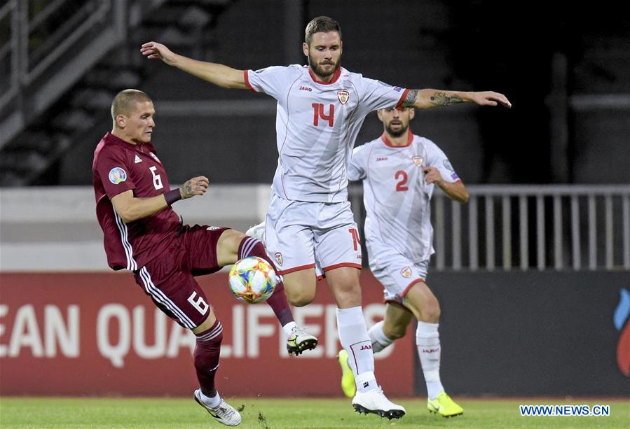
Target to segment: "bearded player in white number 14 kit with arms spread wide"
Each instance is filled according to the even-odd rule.
[[[278,262],[289,302],[296,306],[315,298],[315,262],[324,269],[338,307],[339,338],[355,373],[353,407],[399,418],[404,407],[385,398],[376,383],[361,308],[361,248],[346,191],[352,146],[367,113],[379,108],[432,108],[466,101],[510,104],[498,92],[408,90],[352,73],[341,67],[341,29],[329,17],[308,23],[302,49],[308,66],[257,71],[183,57],[154,41],[144,43],[141,52],[214,85],[264,92],[278,100],[279,157],[266,216],[267,251]]]

